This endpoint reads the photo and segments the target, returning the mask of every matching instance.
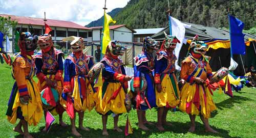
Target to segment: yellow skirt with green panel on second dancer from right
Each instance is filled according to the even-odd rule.
[[[158,107],[176,107],[180,103],[180,91],[174,73],[161,75],[162,91],[156,91]]]

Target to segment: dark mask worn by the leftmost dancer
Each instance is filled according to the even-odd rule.
[[[29,32],[23,32],[21,34],[21,41],[24,41],[27,52],[34,51],[37,48],[37,40],[38,36],[33,36]]]

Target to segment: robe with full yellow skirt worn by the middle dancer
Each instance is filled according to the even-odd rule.
[[[96,111],[101,115],[126,113],[124,101],[128,84],[124,80],[122,60],[104,57],[100,62],[105,68],[102,69],[103,86],[94,94]]]

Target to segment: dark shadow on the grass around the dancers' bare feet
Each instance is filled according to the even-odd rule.
[[[156,122],[154,122],[156,124]],[[182,123],[182,122],[171,122],[173,124],[173,126],[166,126],[165,128],[165,132],[170,132],[173,134],[177,134],[177,136],[179,134],[185,134],[185,133],[190,133],[187,132],[187,130],[189,129],[190,126],[190,122],[186,122],[186,123]],[[148,128],[150,128],[150,130],[148,131],[143,131],[141,129],[134,129],[133,134],[130,134],[127,137],[149,137],[152,134],[155,134],[157,136],[160,136],[162,133],[161,131],[158,131],[158,129],[156,128],[155,125],[147,125]],[[205,132],[204,126],[203,124],[200,124],[199,122],[196,122],[196,131],[194,132],[194,134],[196,135],[202,135],[202,136],[220,136],[220,137],[231,137],[228,133],[227,130],[224,129],[220,129],[220,128],[216,128],[215,126],[211,126],[213,129],[217,130],[219,133],[215,134],[215,133],[210,133],[210,132]],[[44,127],[41,127],[41,129],[43,129]],[[120,128],[122,130],[124,130],[124,126],[120,126]],[[102,136],[102,130],[101,129],[92,129],[90,131],[82,131],[77,129],[78,132],[80,134],[82,134],[82,137],[125,137],[124,136],[124,132],[117,132],[114,131],[113,129],[108,129],[109,132],[109,136]],[[67,126],[67,127],[61,127],[58,124],[53,124],[49,133],[44,133],[44,132],[32,132],[31,133],[34,137],[76,137],[74,135],[71,134],[71,126]],[[19,138],[19,137],[23,137],[23,135],[16,135],[15,137]]]

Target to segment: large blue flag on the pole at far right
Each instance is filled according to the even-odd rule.
[[[230,47],[232,54],[245,54],[244,23],[236,17],[229,16]]]

